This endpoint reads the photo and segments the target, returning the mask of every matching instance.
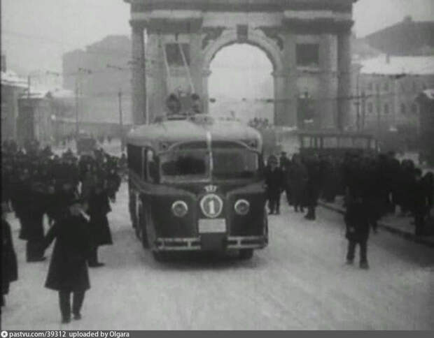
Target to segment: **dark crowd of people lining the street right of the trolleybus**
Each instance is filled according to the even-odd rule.
[[[283,152],[269,156],[265,170],[269,214],[280,213],[281,193],[295,212],[304,212],[306,219],[316,219],[318,199],[331,203],[344,196],[346,238],[349,240],[347,263],[360,245],[360,267],[367,268],[367,239],[370,228],[377,231],[377,222],[386,214],[414,217],[414,234],[427,235],[434,229],[426,220],[433,208],[434,175],[416,168],[411,160],[398,161],[388,154],[347,153],[344,156],[295,154],[288,159]]]

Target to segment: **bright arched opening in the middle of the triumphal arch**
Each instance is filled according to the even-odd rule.
[[[211,115],[232,115],[246,123],[274,123],[272,73],[276,65],[262,47],[226,43],[211,54],[207,66]]]

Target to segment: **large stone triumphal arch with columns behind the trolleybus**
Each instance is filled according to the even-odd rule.
[[[212,59],[227,45],[248,43],[272,62],[276,125],[297,125],[304,91],[314,98],[318,128],[346,125],[356,0],[124,1],[131,7],[135,124],[163,112],[176,91],[199,94],[207,110]]]

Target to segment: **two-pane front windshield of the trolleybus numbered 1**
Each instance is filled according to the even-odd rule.
[[[182,149],[160,156],[162,180],[197,181],[211,179],[248,179],[257,177],[259,155],[249,149],[213,149],[212,164],[208,149]],[[211,170],[212,168],[212,170]]]

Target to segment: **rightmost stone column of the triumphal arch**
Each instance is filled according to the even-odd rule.
[[[351,31],[344,29],[337,34],[337,128],[344,130],[348,124],[351,107]]]

